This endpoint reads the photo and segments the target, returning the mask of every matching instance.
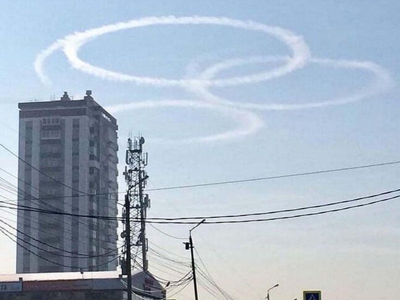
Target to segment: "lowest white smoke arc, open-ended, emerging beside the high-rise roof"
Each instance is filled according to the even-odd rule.
[[[240,125],[238,128],[233,130],[227,130],[224,132],[210,134],[207,136],[189,137],[181,139],[161,139],[151,138],[152,141],[158,142],[171,142],[171,143],[194,143],[194,142],[210,142],[210,141],[224,141],[233,138],[239,138],[242,136],[256,133],[262,126],[263,121],[253,112],[245,111],[242,109],[236,109],[233,107],[226,107],[215,103],[195,101],[195,100],[145,100],[140,102],[123,103],[109,105],[105,107],[111,113],[119,113],[129,111],[131,109],[143,109],[143,108],[159,108],[159,107],[191,107],[191,108],[202,108],[213,111],[221,112],[239,121]]]

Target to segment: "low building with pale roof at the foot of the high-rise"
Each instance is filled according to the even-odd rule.
[[[148,271],[132,275],[132,299],[165,299]],[[0,300],[124,300],[126,279],[117,271],[0,275]]]

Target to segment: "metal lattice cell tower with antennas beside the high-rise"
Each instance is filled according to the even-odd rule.
[[[141,250],[141,268],[147,270],[147,238],[145,235],[145,218],[147,207],[150,207],[148,194],[143,194],[148,175],[144,169],[147,165],[147,153],[142,151],[144,137],[136,136],[133,140],[129,137],[127,142],[125,156],[125,181],[127,191],[125,194],[125,205],[122,212],[125,224],[125,230],[121,236],[125,238],[126,259],[122,259],[122,274],[127,275],[128,300],[131,299],[131,269],[136,261],[136,257],[132,257],[131,247],[138,247],[134,253]]]

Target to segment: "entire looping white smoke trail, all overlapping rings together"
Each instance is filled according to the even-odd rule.
[[[283,43],[285,43],[291,50],[292,56],[262,56],[262,57],[250,57],[244,59],[232,59],[221,63],[217,63],[208,67],[204,70],[197,78],[182,78],[182,79],[167,79],[162,77],[144,77],[138,75],[131,75],[121,72],[115,72],[107,70],[98,66],[91,65],[85,61],[82,61],[78,57],[78,51],[82,45],[87,43],[102,34],[115,32],[118,30],[143,27],[149,25],[183,25],[183,24],[214,24],[222,26],[231,26],[235,28],[241,28],[244,30],[255,30],[261,31],[268,35],[271,35]],[[240,126],[233,130],[220,132],[208,136],[191,137],[180,140],[174,140],[173,142],[208,142],[216,140],[227,140],[234,137],[244,136],[255,133],[260,127],[262,127],[262,120],[250,111],[244,111],[242,108],[250,109],[301,109],[301,108],[312,108],[320,107],[325,105],[336,105],[344,104],[348,102],[358,101],[362,98],[384,92],[392,84],[390,75],[379,65],[368,62],[368,61],[357,61],[357,60],[334,60],[334,59],[323,59],[323,58],[310,58],[310,52],[308,46],[303,41],[301,36],[295,35],[291,31],[277,27],[268,26],[253,21],[241,21],[226,17],[211,17],[211,16],[161,16],[161,17],[144,17],[140,19],[133,19],[127,22],[119,22],[109,24],[97,28],[87,29],[81,32],[75,32],[65,36],[63,39],[59,39],[52,43],[49,47],[42,50],[36,57],[34,62],[34,69],[38,74],[40,80],[43,83],[48,84],[49,79],[43,71],[43,64],[45,59],[54,51],[62,49],[65,53],[68,61],[72,67],[81,70],[83,72],[92,74],[99,78],[107,80],[116,80],[123,82],[134,82],[137,84],[149,84],[157,86],[181,86],[190,91],[193,91],[200,96],[203,101],[194,100],[147,100],[141,102],[119,104],[109,106],[108,109],[111,112],[120,112],[121,110],[128,109],[139,109],[139,108],[158,108],[158,107],[192,107],[192,108],[205,108],[212,109],[221,112],[225,115],[229,115],[235,120],[240,122]],[[271,62],[271,61],[282,61],[283,64],[272,68],[270,70],[256,72],[249,75],[235,76],[224,79],[215,79],[215,75],[221,70],[257,62]],[[279,77],[289,72],[298,69],[307,62],[313,62],[324,66],[330,67],[344,67],[350,69],[362,69],[372,72],[375,76],[375,81],[370,86],[363,88],[362,90],[341,98],[330,99],[320,102],[308,102],[308,103],[251,103],[251,102],[234,102],[222,97],[216,96],[209,91],[210,86],[228,86],[245,83],[255,83],[265,81],[271,78]],[[238,109],[241,108],[241,109]],[[162,140],[165,142],[165,140]]]

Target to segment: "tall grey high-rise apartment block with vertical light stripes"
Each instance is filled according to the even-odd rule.
[[[18,107],[16,272],[116,269],[116,119],[90,90]]]

